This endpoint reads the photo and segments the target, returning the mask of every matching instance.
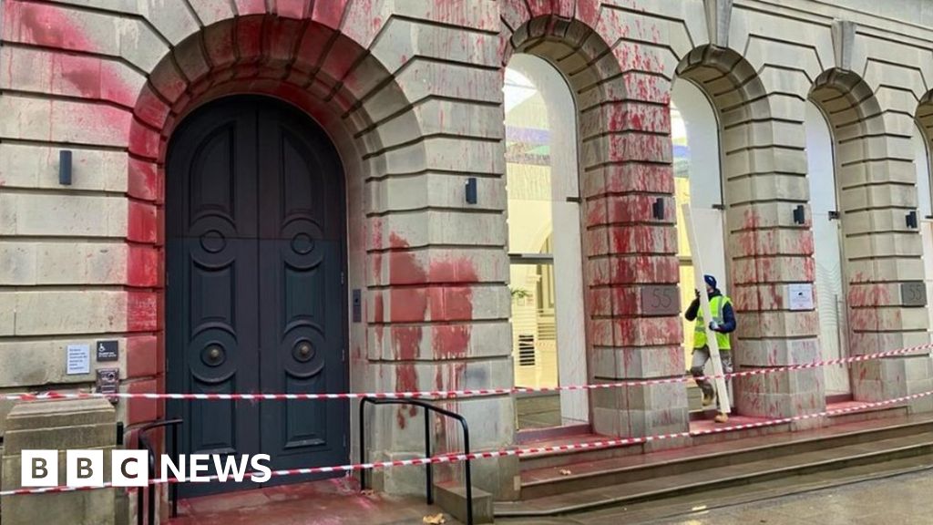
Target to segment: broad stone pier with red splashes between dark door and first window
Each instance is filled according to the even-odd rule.
[[[371,50],[384,64],[405,64],[396,72],[398,89],[420,101],[377,124],[376,133],[391,143],[383,143],[369,158],[381,170],[365,183],[371,388],[509,388],[502,79],[495,59],[498,10],[494,2],[474,2],[470,15],[460,17],[455,9],[416,5],[397,3],[397,13],[406,17],[392,23],[397,37],[381,38]],[[467,29],[473,33],[471,44],[462,48]],[[436,45],[415,51],[407,48],[406,39]],[[380,99],[377,95],[373,100]],[[469,177],[477,179],[476,204],[466,203]],[[510,396],[441,405],[466,418],[472,450],[512,445]],[[432,452],[462,450],[456,421],[432,419]],[[375,407],[368,426],[373,433],[370,460],[425,453],[420,408]],[[461,469],[459,464],[440,465],[435,479],[459,480]],[[386,491],[422,493],[424,471],[386,469],[373,473],[373,480]],[[514,497],[517,474],[514,458],[472,465],[473,484],[500,499]]]

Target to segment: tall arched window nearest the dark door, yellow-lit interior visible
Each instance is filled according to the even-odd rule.
[[[577,110],[551,64],[527,54],[506,69],[509,290],[515,385],[587,382]],[[586,392],[521,395],[519,429],[586,423]]]

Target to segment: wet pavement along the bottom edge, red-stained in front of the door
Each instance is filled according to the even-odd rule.
[[[731,490],[741,491],[740,488]],[[195,498],[171,525],[402,525],[441,511],[422,498],[361,495],[352,478]],[[560,518],[496,519],[501,525],[913,525],[933,524],[933,469],[781,496],[749,504],[699,509],[675,518],[632,520],[631,509],[605,508]],[[626,516],[628,515],[628,516]],[[444,515],[447,525],[458,521]]]

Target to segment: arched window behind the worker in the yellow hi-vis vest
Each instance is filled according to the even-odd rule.
[[[683,318],[694,298],[693,257],[684,227],[681,206],[690,205],[694,230],[703,261],[703,272],[717,278],[719,289],[728,293],[726,220],[722,198],[719,124],[713,105],[703,91],[689,80],[678,78],[671,91],[671,138],[674,142],[674,184],[677,206],[677,258],[680,261],[680,305],[684,322],[685,363],[690,366],[693,350],[693,321]],[[712,374],[712,363],[707,373]],[[701,408],[699,390],[691,390],[690,409]]]

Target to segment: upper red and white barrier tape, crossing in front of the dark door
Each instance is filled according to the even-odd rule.
[[[933,344],[919,345],[910,348],[887,350],[873,354],[830,359],[826,361],[805,362],[787,366],[773,366],[769,368],[755,368],[724,374],[722,377],[761,376],[779,372],[795,372],[808,368],[865,362],[885,357],[909,354],[933,348]],[[717,379],[719,376],[706,376],[706,379]],[[487,395],[504,395],[511,393],[528,392],[557,392],[566,390],[600,390],[616,389],[622,387],[639,387],[648,385],[662,385],[670,383],[686,383],[692,381],[693,376],[665,377],[662,379],[640,379],[634,381],[617,381],[612,383],[597,383],[592,385],[565,385],[560,387],[512,387],[508,389],[466,389],[466,390],[422,390],[405,392],[349,392],[349,393],[156,393],[156,392],[40,392],[40,393],[0,393],[0,401],[37,401],[42,399],[88,399],[88,398],[120,398],[120,399],[169,399],[169,400],[201,400],[201,401],[293,401],[293,400],[328,400],[328,399],[360,399],[371,397],[375,399],[454,399],[460,397],[479,397]]]

